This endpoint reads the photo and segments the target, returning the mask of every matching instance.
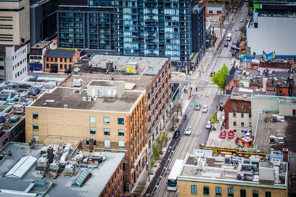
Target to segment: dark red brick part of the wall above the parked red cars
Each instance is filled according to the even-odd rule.
[[[236,104],[236,109],[233,109],[233,104]],[[244,105],[244,109],[241,109],[241,105]],[[251,101],[245,100],[235,100],[235,99],[228,99],[226,104],[223,107],[224,114],[225,114],[225,129],[229,129],[229,113],[252,113],[252,110],[249,109],[249,105],[251,105]]]

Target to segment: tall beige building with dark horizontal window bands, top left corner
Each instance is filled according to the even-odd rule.
[[[28,0],[0,0],[0,44],[27,44],[30,52],[30,4]],[[23,38],[23,39],[22,39]]]

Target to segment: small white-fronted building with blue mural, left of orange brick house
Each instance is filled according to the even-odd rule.
[[[44,54],[48,49],[56,49],[57,44],[53,41],[40,41],[31,47],[29,70],[43,71],[44,70]]]

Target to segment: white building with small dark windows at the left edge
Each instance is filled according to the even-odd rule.
[[[20,81],[27,76],[27,45],[0,44],[0,81]]]

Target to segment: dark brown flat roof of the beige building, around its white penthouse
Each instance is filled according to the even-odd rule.
[[[138,92],[126,90],[121,97],[117,97],[116,99],[98,98],[92,101],[82,101],[83,97],[87,98],[86,93],[73,93],[72,88],[56,87],[51,93],[42,94],[29,106],[64,108],[64,105],[67,104],[69,106],[68,109],[128,113],[142,94],[144,93],[140,91]],[[42,100],[43,103],[41,102]]]

